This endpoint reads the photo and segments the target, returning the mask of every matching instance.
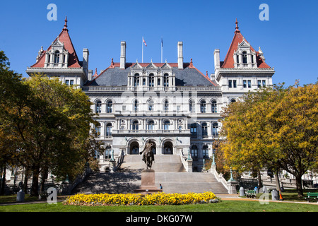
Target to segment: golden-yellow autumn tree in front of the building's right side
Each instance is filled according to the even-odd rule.
[[[220,148],[228,164],[240,171],[285,169],[303,196],[301,177],[318,155],[317,87],[264,88],[226,107]]]

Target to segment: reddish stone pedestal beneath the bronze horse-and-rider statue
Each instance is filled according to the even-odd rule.
[[[155,170],[143,169],[141,172],[141,186],[134,190],[135,193],[151,194],[155,192],[163,192],[155,186]]]

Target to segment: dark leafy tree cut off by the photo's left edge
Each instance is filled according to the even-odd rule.
[[[4,169],[0,194],[4,193],[6,168],[18,165],[18,114],[27,105],[29,93],[28,87],[22,83],[22,76],[10,70],[9,66],[8,58],[0,51],[0,168]]]

